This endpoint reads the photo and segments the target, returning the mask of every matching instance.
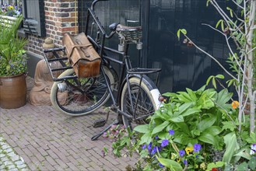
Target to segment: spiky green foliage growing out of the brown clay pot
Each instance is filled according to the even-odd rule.
[[[26,54],[23,50],[26,39],[17,35],[22,21],[23,16],[18,16],[12,24],[0,24],[0,76],[26,72]]]

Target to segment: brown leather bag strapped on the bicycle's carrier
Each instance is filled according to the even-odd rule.
[[[68,60],[79,78],[100,75],[100,55],[96,53],[85,33],[79,33],[75,37],[65,33],[62,43],[65,45]]]

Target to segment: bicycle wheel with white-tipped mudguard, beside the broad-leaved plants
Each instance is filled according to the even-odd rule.
[[[122,116],[125,127],[133,127],[139,124],[148,124],[147,118],[160,107],[160,92],[153,82],[146,82],[138,77],[129,79],[131,96],[129,95],[128,82],[124,84],[121,92],[121,110],[133,118]]]

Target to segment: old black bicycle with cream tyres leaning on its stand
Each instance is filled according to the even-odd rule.
[[[44,57],[54,79],[51,102],[61,113],[81,116],[92,113],[110,99],[112,102],[110,109],[118,114],[117,120],[113,124],[122,122],[125,127],[132,128],[136,124],[144,124],[146,118],[161,105],[160,91],[147,76],[156,73],[157,82],[161,69],[132,67],[128,47],[130,44],[136,44],[138,50],[142,49],[142,27],[113,23],[109,26],[110,34],[107,35],[93,10],[96,2],[100,1],[106,0],[95,0],[88,9],[85,30],[89,41],[100,54],[100,75],[95,78],[79,79],[72,67],[67,66],[67,58],[58,53],[58,51],[65,51],[65,48],[44,50]],[[105,40],[112,38],[114,34],[118,35],[120,41],[118,51],[105,46]],[[121,55],[121,60],[113,58],[108,54],[109,52]],[[54,54],[54,58],[47,58],[48,53]],[[62,68],[51,68],[51,62],[55,61],[61,62]],[[112,64],[120,65],[119,74],[114,70]],[[55,78],[53,72],[60,70],[65,70],[65,72]],[[65,102],[61,98],[63,93],[66,96]],[[100,122],[106,123],[102,120]],[[111,125],[92,139],[100,137]]]

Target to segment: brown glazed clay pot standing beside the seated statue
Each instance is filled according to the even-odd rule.
[[[26,104],[26,75],[0,77],[0,106],[15,109]]]

